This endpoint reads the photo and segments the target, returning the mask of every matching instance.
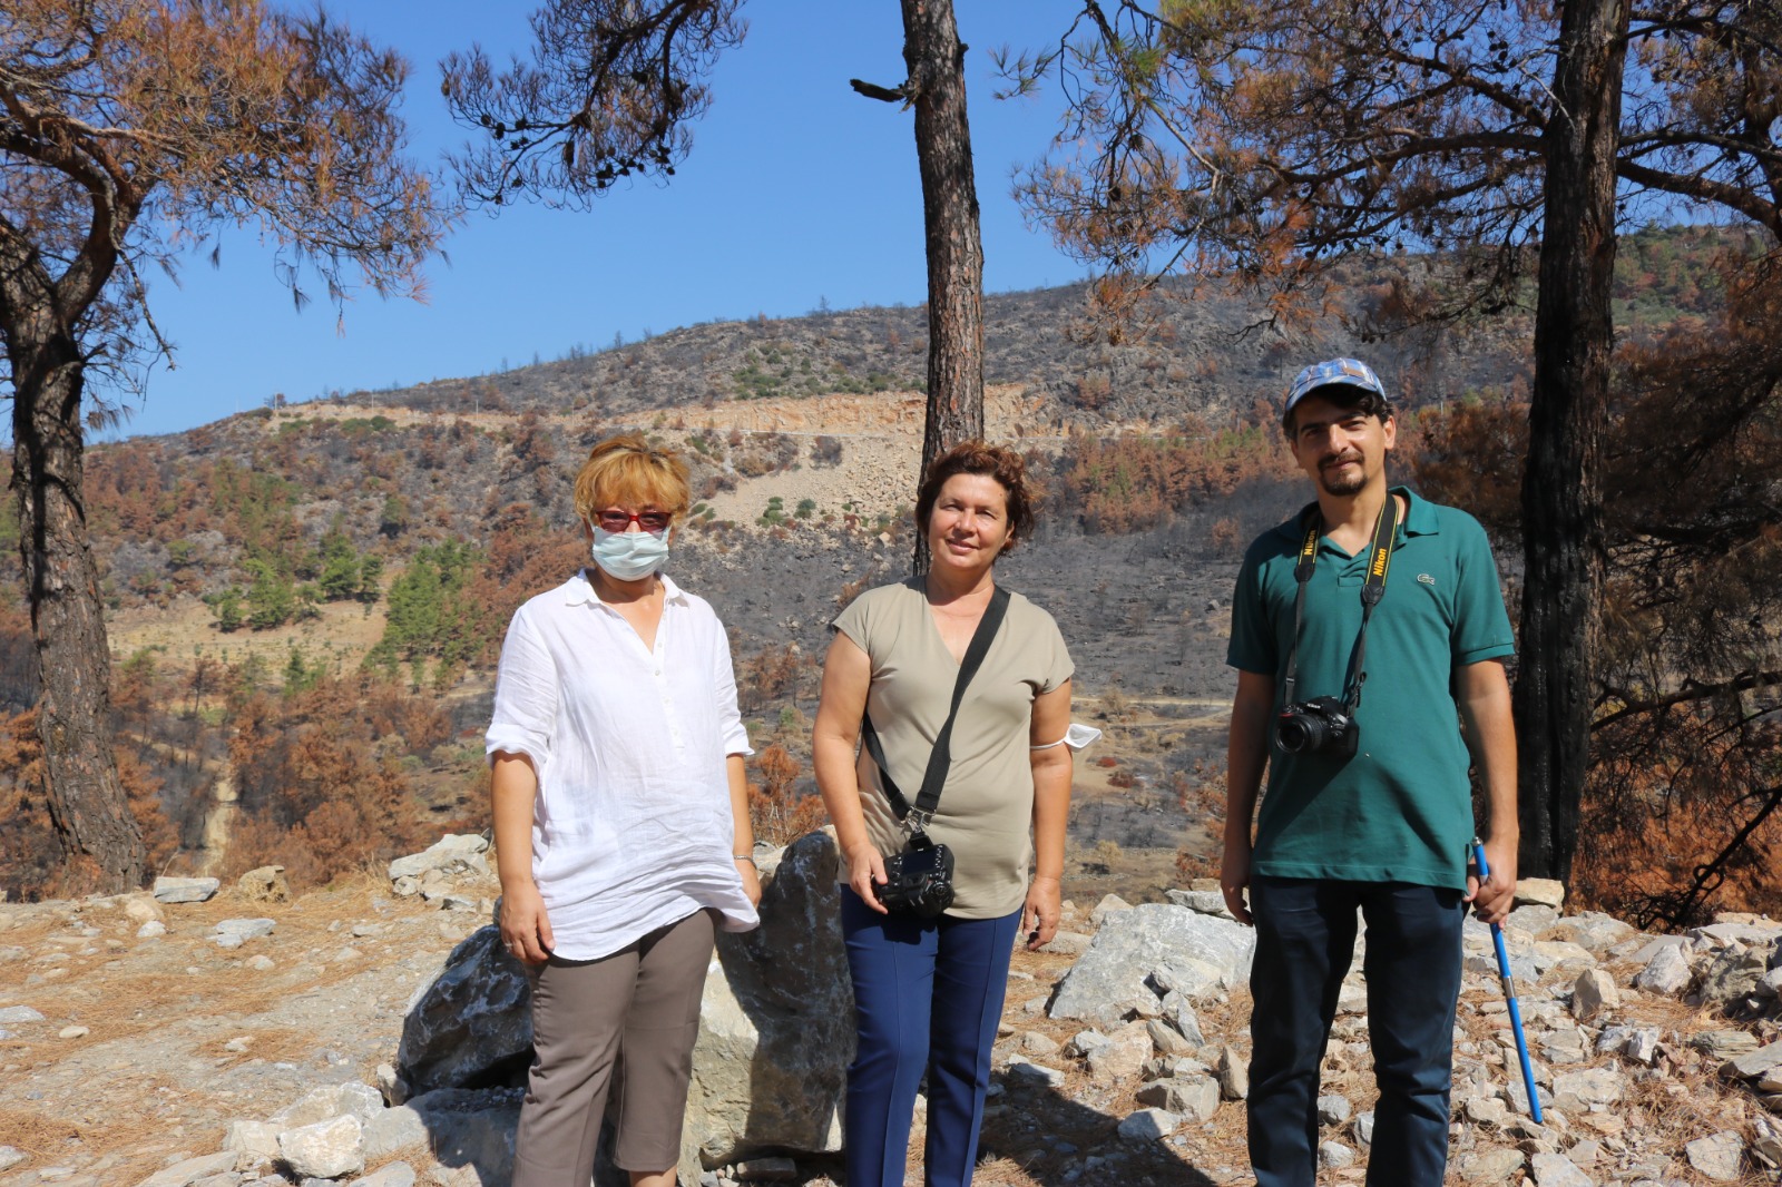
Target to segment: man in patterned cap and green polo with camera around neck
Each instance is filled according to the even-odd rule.
[[[1515,896],[1515,636],[1477,520],[1388,488],[1397,424],[1367,364],[1299,372],[1283,430],[1317,501],[1244,556],[1226,654],[1219,880],[1256,925],[1251,1162],[1258,1187],[1315,1182],[1319,1064],[1360,909],[1379,1082],[1367,1182],[1440,1187],[1465,904],[1492,923]],[[1490,816],[1483,884],[1468,757]]]

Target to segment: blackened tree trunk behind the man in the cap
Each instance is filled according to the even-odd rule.
[[[1614,348],[1614,157],[1627,0],[1561,5],[1522,479],[1520,873],[1566,880],[1590,765],[1606,569],[1600,451]]]

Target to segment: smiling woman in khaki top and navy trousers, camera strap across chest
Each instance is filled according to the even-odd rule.
[[[1059,929],[1071,658],[1051,615],[1012,595],[960,702],[928,825],[957,863],[953,905],[939,918],[887,913],[873,893],[884,859],[909,834],[877,765],[855,752],[870,713],[891,777],[914,798],[996,588],[991,570],[1032,531],[1032,503],[1010,449],[966,442],[936,458],[916,495],[928,574],[855,599],[836,618],[823,665],[813,757],[843,854],[841,927],[859,1025],[843,1135],[850,1187],[902,1185],[923,1075],[925,1182],[971,1182],[1016,934],[1037,948]]]

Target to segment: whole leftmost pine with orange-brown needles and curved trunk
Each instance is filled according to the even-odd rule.
[[[110,652],[82,499],[89,387],[166,351],[141,273],[212,228],[280,244],[303,303],[413,291],[444,230],[394,114],[406,64],[249,0],[9,0],[0,14],[0,392],[12,401],[20,560],[43,674],[37,729],[62,855],[144,879],[112,756]],[[212,257],[214,258],[214,257]],[[349,276],[351,273],[351,276]]]

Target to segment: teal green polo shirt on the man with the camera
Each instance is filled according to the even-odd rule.
[[[1367,684],[1354,757],[1287,754],[1269,722],[1269,788],[1256,822],[1253,870],[1288,879],[1467,886],[1472,841],[1470,765],[1454,700],[1456,672],[1515,652],[1497,563],[1472,515],[1410,501],[1386,590],[1367,627]],[[1274,679],[1285,702],[1294,643],[1294,565],[1306,515],[1263,533],[1244,554],[1231,599],[1226,663]],[[1306,588],[1297,700],[1344,695],[1361,629],[1367,545],[1347,556],[1326,536]]]

